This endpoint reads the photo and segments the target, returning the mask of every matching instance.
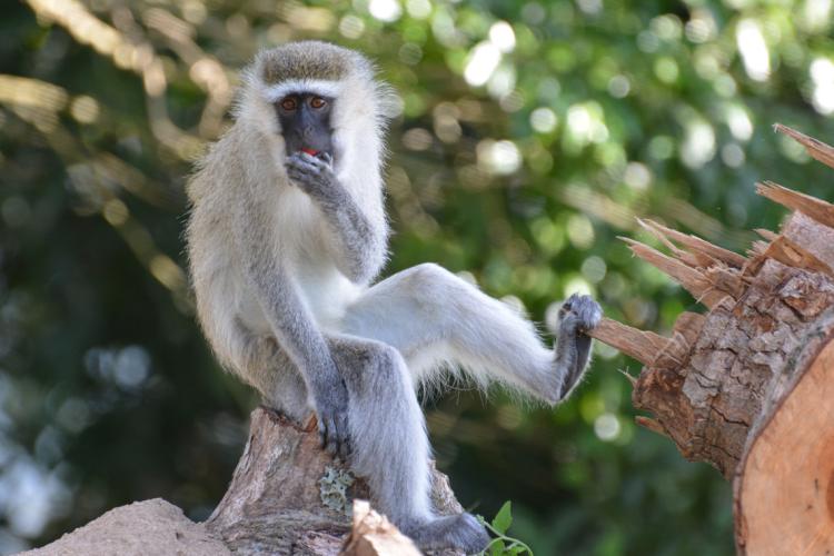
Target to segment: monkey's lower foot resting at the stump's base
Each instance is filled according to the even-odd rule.
[[[421,524],[404,524],[400,529],[423,550],[456,548],[477,554],[489,544],[489,534],[478,519],[467,513],[444,516]]]

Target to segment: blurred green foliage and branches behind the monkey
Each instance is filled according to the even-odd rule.
[[[202,519],[225,492],[257,399],[195,324],[183,185],[259,48],[357,48],[399,92],[385,275],[435,261],[538,321],[587,291],[668,334],[703,309],[616,239],[647,240],[635,216],[743,252],[784,215],[755,181],[831,197],[831,173],[771,129],[834,140],[828,0],[0,10],[1,553],[158,496]],[[461,503],[513,500],[510,534],[539,555],[732,554],[729,485],[634,425],[617,370],[638,363],[595,354],[557,410],[425,401]]]

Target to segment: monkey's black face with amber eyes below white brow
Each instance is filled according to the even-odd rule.
[[[275,103],[287,155],[300,150],[332,157],[330,112],[332,99],[309,92],[294,92]]]

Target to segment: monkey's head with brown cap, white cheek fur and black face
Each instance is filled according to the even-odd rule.
[[[247,70],[238,118],[284,140],[284,153],[328,153],[351,146],[376,152],[396,100],[358,52],[319,41],[265,50]]]

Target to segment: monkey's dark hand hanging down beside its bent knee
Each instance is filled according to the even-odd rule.
[[[348,433],[348,391],[340,376],[322,380],[312,386],[312,400],[316,404],[318,435],[321,447],[331,456],[344,461],[350,456]]]

